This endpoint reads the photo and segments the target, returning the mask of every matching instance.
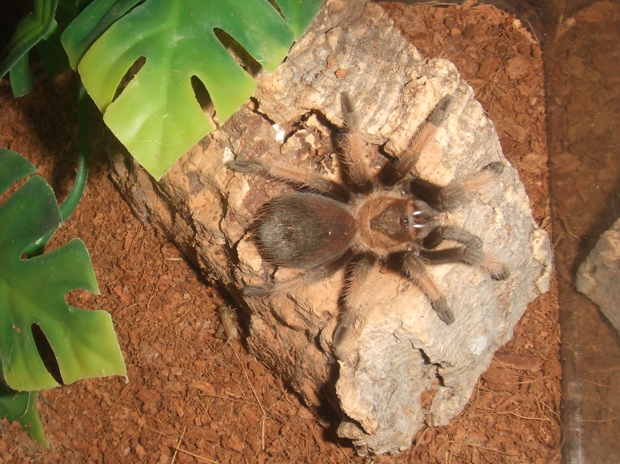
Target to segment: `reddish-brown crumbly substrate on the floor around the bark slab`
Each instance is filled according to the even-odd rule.
[[[469,2],[438,8],[383,4],[423,56],[448,58],[495,122],[534,218],[551,232],[541,52],[515,18]],[[0,146],[29,158],[63,198],[73,183],[77,82],[38,72],[33,92],[0,83]],[[286,385],[218,334],[224,302],[166,240],[144,228],[108,178],[111,135],[92,118],[84,198],[51,247],[79,236],[100,295],[69,304],[112,314],[129,382],[82,380],[42,392],[50,449],[17,424],[0,423],[4,463],[521,463],[560,461],[560,364],[556,284],[531,303],[515,336],[448,426],[425,428],[394,457],[358,458]],[[242,338],[242,337],[241,337]],[[430,398],[429,398],[430,400]]]

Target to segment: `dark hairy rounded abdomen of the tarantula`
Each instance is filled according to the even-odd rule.
[[[263,207],[257,226],[260,251],[278,266],[312,269],[343,256],[355,239],[355,220],[345,204],[296,192]]]

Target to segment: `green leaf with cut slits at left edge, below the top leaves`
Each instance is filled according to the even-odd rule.
[[[22,172],[29,170],[32,165],[23,158],[20,163],[15,155],[0,148],[0,173],[15,165]],[[0,183],[0,195],[6,183]],[[64,301],[70,290],[99,292],[84,243],[73,239],[51,252],[21,258],[27,246],[58,228],[60,221],[54,193],[41,176],[31,176],[0,205],[0,360],[13,390],[58,385],[38,353],[33,324],[50,343],[64,383],[126,376],[110,315],[76,309]]]

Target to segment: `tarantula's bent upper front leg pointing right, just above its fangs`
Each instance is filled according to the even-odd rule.
[[[503,171],[500,161],[490,163],[477,173],[454,179],[446,186],[438,186],[421,178],[412,179],[411,192],[419,199],[424,200],[438,211],[454,211],[471,199],[471,192],[497,179]]]

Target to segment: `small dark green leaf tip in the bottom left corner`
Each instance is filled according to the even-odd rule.
[[[0,418],[6,418],[9,422],[17,421],[31,439],[47,448],[49,445],[36,408],[37,397],[38,392],[15,392],[9,389],[2,380],[0,369]]]

